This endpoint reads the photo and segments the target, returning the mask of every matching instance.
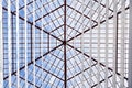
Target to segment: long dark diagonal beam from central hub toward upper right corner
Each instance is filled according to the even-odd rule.
[[[129,7],[125,8],[125,10],[128,10],[128,9],[129,9]],[[122,11],[119,11],[117,14],[121,14],[121,12],[122,12]],[[112,18],[113,18],[113,15],[109,16],[108,19],[110,20],[110,19],[112,19]],[[105,22],[106,22],[106,20],[101,21],[100,24],[102,24],[102,23],[105,23]],[[91,26],[91,29],[95,29],[96,26],[98,26],[98,23],[95,24],[94,26]],[[87,29],[87,30],[85,30],[84,33],[88,32],[88,31],[91,30],[91,29]],[[75,37],[80,36],[81,34],[82,34],[82,33],[77,34],[76,36],[69,38],[67,42],[74,40]]]

